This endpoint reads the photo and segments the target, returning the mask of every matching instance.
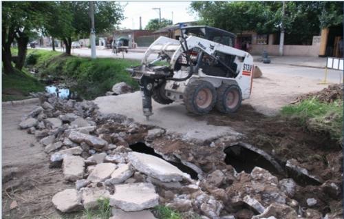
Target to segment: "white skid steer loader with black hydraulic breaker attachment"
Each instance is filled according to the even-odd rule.
[[[235,35],[208,26],[180,28],[179,40],[160,36],[139,66],[127,69],[140,83],[142,109],[149,119],[151,98],[160,104],[184,102],[193,114],[236,112],[250,97],[253,59],[233,48]],[[149,62],[150,55],[158,58]]]

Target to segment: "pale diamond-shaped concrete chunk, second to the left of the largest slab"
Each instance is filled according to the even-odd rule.
[[[115,169],[116,165],[113,163],[100,163],[94,167],[87,180],[91,181],[92,183],[103,182],[107,178],[110,178]]]

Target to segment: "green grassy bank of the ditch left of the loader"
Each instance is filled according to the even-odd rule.
[[[82,98],[103,96],[115,83],[122,81],[138,90],[137,81],[134,81],[125,69],[139,65],[139,61],[90,59],[47,50],[34,50],[30,54],[36,55],[34,67],[39,70],[41,77],[52,76],[54,79],[65,79],[67,83],[76,83],[72,90],[76,90]]]

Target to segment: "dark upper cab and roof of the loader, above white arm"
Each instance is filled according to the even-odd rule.
[[[216,43],[228,45],[234,47],[235,34],[221,30],[218,28],[212,28],[208,26],[190,26],[181,28],[183,34],[188,36],[197,36],[203,39],[208,39]]]

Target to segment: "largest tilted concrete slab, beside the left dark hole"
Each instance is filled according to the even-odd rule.
[[[184,176],[190,178],[188,174],[184,174],[177,167],[156,156],[130,152],[128,158],[135,169],[148,176],[158,178],[162,182],[178,182]]]

